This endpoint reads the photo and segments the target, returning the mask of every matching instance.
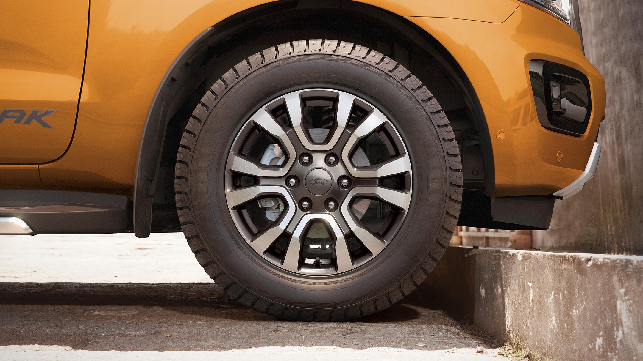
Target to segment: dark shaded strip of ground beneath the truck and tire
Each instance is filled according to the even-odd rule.
[[[419,292],[350,322],[290,322],[243,306],[213,283],[0,283],[0,346],[117,351],[499,346],[425,299]]]

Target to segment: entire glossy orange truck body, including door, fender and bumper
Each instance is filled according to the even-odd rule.
[[[516,0],[360,0],[412,22],[475,89],[493,150],[491,195],[543,195],[583,173],[604,118],[604,80],[581,38]],[[64,0],[0,4],[0,110],[55,109],[52,128],[0,123],[0,188],[68,189],[132,198],[141,134],[159,84],[202,31],[265,0]],[[298,39],[293,39],[298,40]],[[528,64],[573,67],[590,82],[580,137],[541,127]],[[13,117],[13,118],[12,118]]]

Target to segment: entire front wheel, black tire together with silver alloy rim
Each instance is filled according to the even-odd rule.
[[[268,48],[204,94],[176,163],[183,232],[228,294],[297,321],[381,311],[431,272],[462,197],[437,100],[336,40]]]

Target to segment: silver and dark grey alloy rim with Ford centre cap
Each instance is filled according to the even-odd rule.
[[[249,247],[316,276],[373,260],[412,198],[404,141],[381,110],[335,89],[277,96],[242,126],[226,161],[226,202]]]

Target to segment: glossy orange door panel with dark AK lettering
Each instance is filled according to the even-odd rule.
[[[0,14],[0,110],[55,110],[42,118],[51,128],[27,124],[18,112],[8,115],[22,121],[0,119],[0,163],[53,161],[67,149],[76,119],[88,3],[7,0]]]

